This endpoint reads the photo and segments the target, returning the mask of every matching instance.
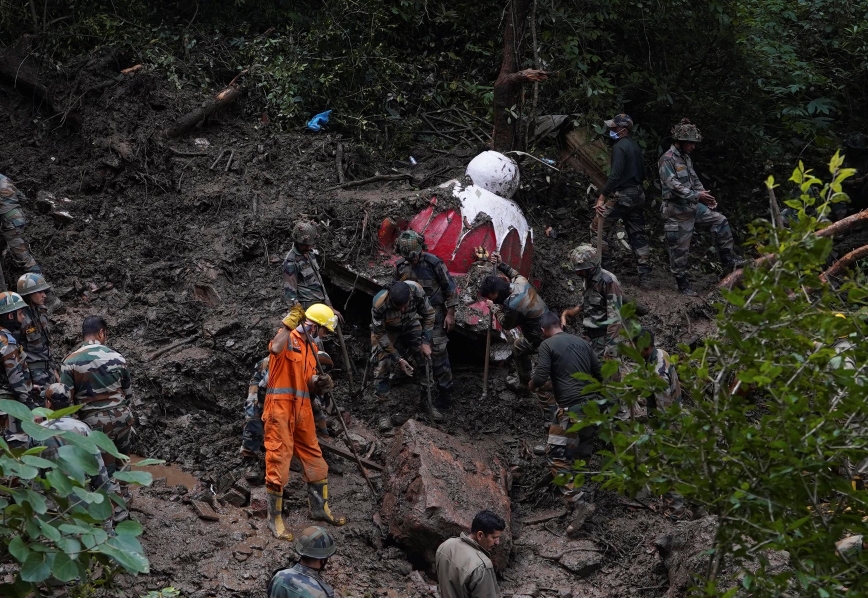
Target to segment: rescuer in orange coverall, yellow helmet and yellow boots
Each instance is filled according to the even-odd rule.
[[[293,455],[301,461],[301,476],[307,482],[310,517],[333,525],[347,522],[344,517],[332,515],[329,508],[329,469],[316,439],[311,409],[313,395],[334,387],[328,375],[317,373],[316,339],[334,332],[337,316],[327,305],[314,303],[305,312],[304,321],[290,329],[294,318],[290,312],[269,344],[268,389],[262,412],[268,529],[281,540],[292,540],[283,522],[283,487],[289,481]]]

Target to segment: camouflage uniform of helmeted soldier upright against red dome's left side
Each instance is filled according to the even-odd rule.
[[[401,258],[395,264],[395,280],[413,280],[422,285],[428,302],[434,308],[434,331],[432,335],[431,359],[434,367],[434,378],[441,393],[452,390],[452,366],[449,363],[449,352],[446,344],[449,341],[447,330],[443,323],[446,312],[458,305],[458,293],[455,281],[443,263],[436,255],[422,253],[416,265]]]

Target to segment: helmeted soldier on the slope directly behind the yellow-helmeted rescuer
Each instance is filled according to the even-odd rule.
[[[292,249],[283,259],[283,294],[290,307],[289,315],[295,318],[287,324],[291,329],[304,321],[304,311],[314,303],[328,305],[339,321],[343,319],[329,302],[322,286],[316,261],[316,238],[315,223],[297,222],[292,229]]]

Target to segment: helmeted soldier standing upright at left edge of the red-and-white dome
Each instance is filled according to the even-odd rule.
[[[401,256],[395,264],[395,280],[418,282],[434,308],[431,356],[438,390],[434,406],[449,409],[452,406],[452,366],[446,345],[449,341],[447,333],[455,325],[455,307],[458,305],[455,281],[443,260],[424,251],[425,237],[419,233],[412,230],[402,232],[395,248]]]

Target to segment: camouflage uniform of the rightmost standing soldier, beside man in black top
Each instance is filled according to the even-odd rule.
[[[693,170],[693,160],[674,145],[660,156],[660,183],[663,187],[661,212],[666,221],[666,242],[669,245],[669,267],[676,277],[687,273],[690,240],[693,229],[710,228],[721,262],[726,266],[732,260],[732,229],[726,216],[699,203],[699,194],[705,191],[702,181]]]

